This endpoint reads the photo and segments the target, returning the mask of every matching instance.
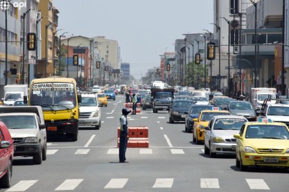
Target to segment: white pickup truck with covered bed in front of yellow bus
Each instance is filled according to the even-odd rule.
[[[14,156],[32,156],[34,164],[46,160],[46,126],[40,106],[3,106],[0,121],[14,140]]]

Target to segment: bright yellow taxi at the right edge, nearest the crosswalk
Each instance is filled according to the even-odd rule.
[[[289,167],[289,129],[286,124],[259,119],[243,125],[237,139],[236,166],[246,171],[248,166]]]

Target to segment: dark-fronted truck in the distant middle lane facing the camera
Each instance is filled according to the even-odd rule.
[[[173,104],[174,93],[173,88],[151,88],[152,112],[169,111]]]

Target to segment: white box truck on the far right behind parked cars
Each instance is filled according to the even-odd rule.
[[[268,104],[274,104],[276,101],[276,88],[251,88],[251,102],[255,109],[260,109],[265,99],[270,98]]]

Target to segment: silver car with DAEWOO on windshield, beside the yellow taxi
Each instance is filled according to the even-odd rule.
[[[216,157],[217,153],[236,153],[234,134],[240,132],[248,120],[237,115],[217,115],[212,117],[204,133],[204,154]]]

